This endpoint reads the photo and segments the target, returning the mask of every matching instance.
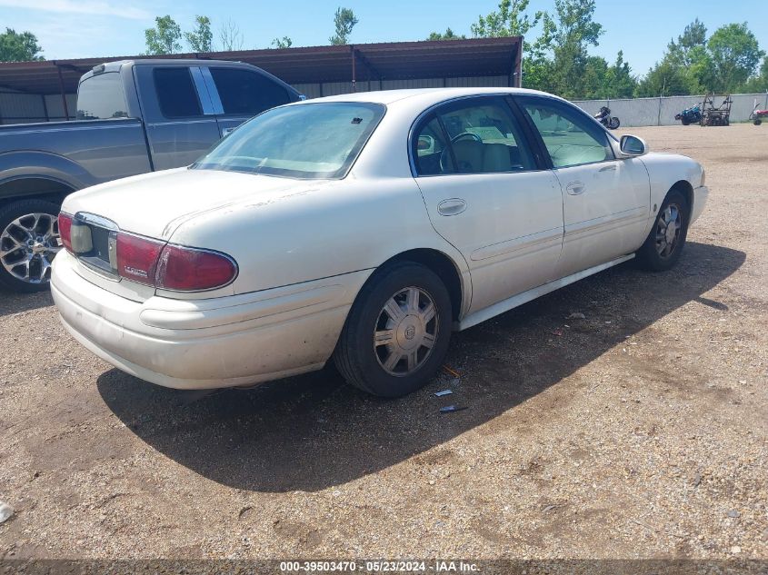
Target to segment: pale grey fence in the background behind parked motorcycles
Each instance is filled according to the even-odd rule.
[[[733,94],[731,96],[731,122],[746,122],[752,113],[754,105],[768,109],[768,93],[765,94]],[[600,107],[607,105],[611,115],[621,120],[626,127],[644,125],[673,125],[674,114],[679,114],[685,108],[701,104],[703,95],[698,96],[665,96],[659,98],[633,98],[632,100],[580,100],[574,104],[590,115],[597,114]],[[714,105],[723,103],[724,95],[714,96]]]

